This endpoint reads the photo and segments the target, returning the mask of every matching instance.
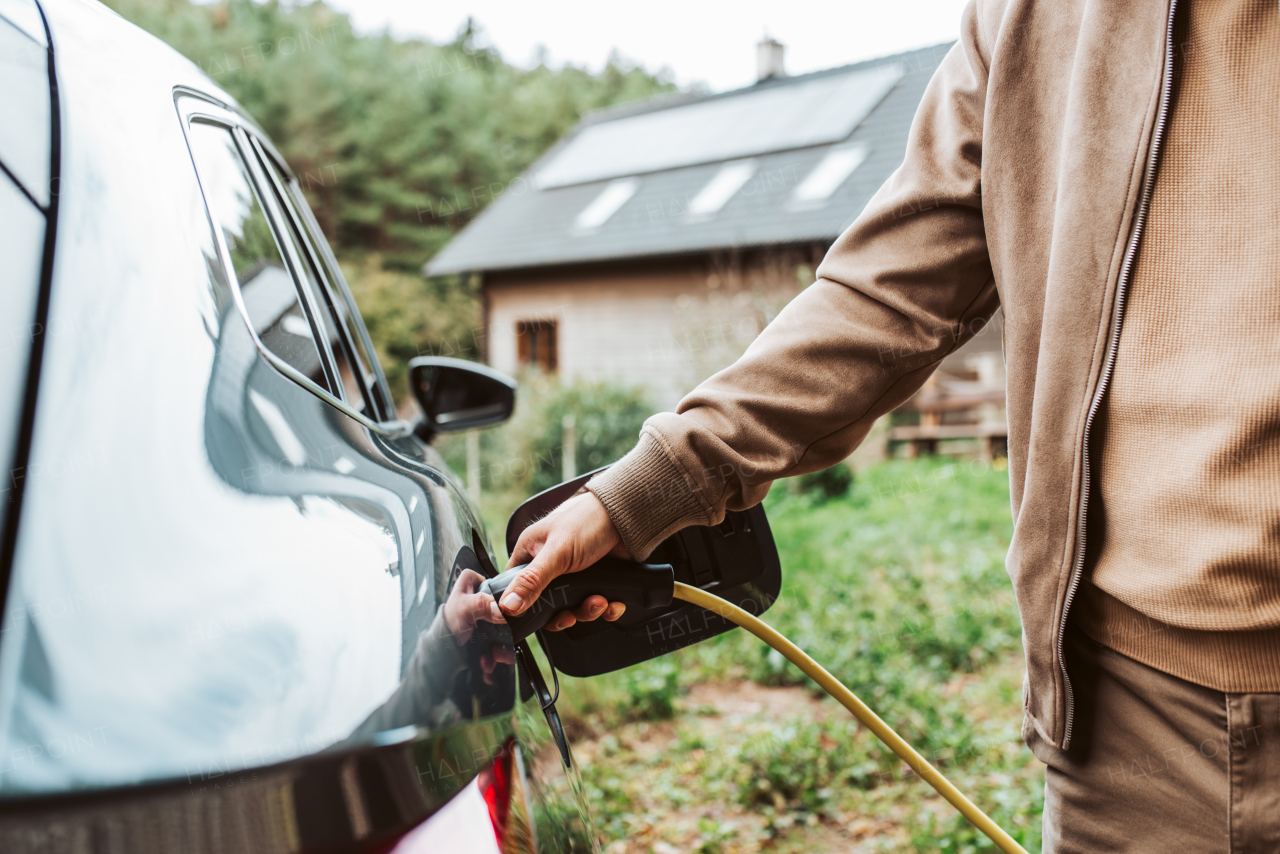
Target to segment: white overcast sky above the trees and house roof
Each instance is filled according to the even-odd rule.
[[[714,91],[755,82],[755,42],[786,45],[787,73],[832,68],[956,38],[964,0],[330,0],[364,32],[448,41],[474,17],[517,65],[538,46],[552,64],[599,70],[609,51],[681,86]]]

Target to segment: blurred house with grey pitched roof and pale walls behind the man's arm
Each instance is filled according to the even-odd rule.
[[[584,118],[426,273],[480,275],[494,367],[643,384],[673,407],[813,282],[901,164],[948,49],[787,77],[764,40],[753,86]],[[986,382],[989,357],[965,360],[992,350],[995,330],[947,366]]]

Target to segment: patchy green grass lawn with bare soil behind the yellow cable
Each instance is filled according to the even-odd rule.
[[[890,461],[829,499],[776,485],[765,507],[783,589],[764,617],[1034,851],[1043,768],[1019,737],[1002,469]],[[562,682],[559,708],[609,854],[996,850],[741,630]],[[554,771],[545,749],[539,762]],[[544,839],[588,850],[554,818],[544,817]]]

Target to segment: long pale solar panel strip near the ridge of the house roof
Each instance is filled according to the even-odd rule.
[[[603,181],[844,140],[902,78],[877,65],[590,124],[539,172],[540,187]]]

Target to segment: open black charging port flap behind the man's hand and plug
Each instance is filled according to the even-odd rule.
[[[516,508],[507,522],[507,552],[515,551],[521,531],[564,503],[599,471],[603,469],[552,487]],[[645,560],[669,563],[677,581],[714,593],[756,616],[777,600],[782,589],[778,549],[760,506],[728,511],[714,528],[695,525],[677,531]],[[654,608],[627,607],[616,622],[579,622],[563,631],[539,632],[539,639],[562,673],[595,676],[714,638],[733,626],[718,613],[677,599]]]

